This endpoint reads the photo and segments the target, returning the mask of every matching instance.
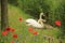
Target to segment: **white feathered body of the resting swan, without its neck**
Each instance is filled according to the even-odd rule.
[[[36,28],[43,28],[43,25],[39,24],[37,20],[35,19],[26,19],[26,23],[28,26],[32,26],[32,27],[36,27]]]

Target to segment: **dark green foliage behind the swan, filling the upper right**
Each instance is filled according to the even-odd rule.
[[[9,0],[9,2],[36,18],[39,17],[40,12],[44,12],[48,24],[55,26],[54,22],[60,19],[62,28],[65,29],[65,0]]]

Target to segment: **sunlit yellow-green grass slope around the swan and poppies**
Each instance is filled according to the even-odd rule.
[[[10,27],[15,29],[15,32],[8,34],[8,42],[10,41],[18,41],[17,43],[48,43],[48,40],[44,40],[43,35],[49,35],[54,38],[54,43],[58,43],[56,37],[61,33],[61,31],[56,28],[54,29],[35,29],[38,31],[38,35],[34,35],[32,33],[28,32],[28,27],[25,24],[27,18],[34,18],[32,16],[26,14],[21,9],[10,5],[8,6],[8,14],[9,14],[9,25]],[[18,18],[22,17],[23,20],[20,22]],[[16,33],[18,35],[17,39],[13,39],[12,34]],[[36,38],[35,38],[36,37]],[[34,39],[37,39],[35,42]]]

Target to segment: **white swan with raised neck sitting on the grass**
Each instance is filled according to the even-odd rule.
[[[36,28],[43,28],[44,25],[43,25],[43,19],[41,18],[42,15],[43,15],[43,13],[40,13],[40,18],[38,22],[36,19],[31,19],[31,18],[26,19],[27,25],[36,27]]]

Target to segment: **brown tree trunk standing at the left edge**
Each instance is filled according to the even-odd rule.
[[[1,30],[8,27],[8,0],[1,0]]]

